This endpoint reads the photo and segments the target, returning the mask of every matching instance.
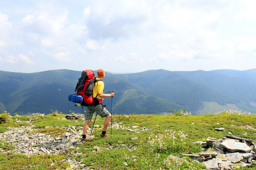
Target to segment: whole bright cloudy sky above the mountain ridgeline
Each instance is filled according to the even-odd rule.
[[[0,70],[256,69],[254,0],[1,0]]]

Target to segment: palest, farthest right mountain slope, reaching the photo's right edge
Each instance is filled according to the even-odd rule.
[[[242,73],[241,73],[242,72]],[[233,76],[230,76],[230,73]],[[203,86],[221,93],[231,99],[233,102],[218,103],[221,105],[236,104],[242,111],[255,113],[256,102],[256,84],[253,84],[255,79],[255,72],[249,70],[250,78],[246,71],[222,70],[222,71],[183,71],[179,74],[195,81]],[[245,76],[242,76],[246,73]],[[252,74],[254,73],[254,74]],[[237,76],[236,76],[237,75]],[[246,80],[243,80],[243,79]]]

